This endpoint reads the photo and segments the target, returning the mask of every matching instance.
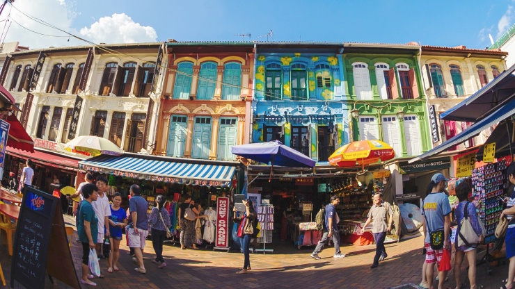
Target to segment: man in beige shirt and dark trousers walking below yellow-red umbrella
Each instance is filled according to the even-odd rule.
[[[367,222],[365,222],[365,225],[361,228],[361,233],[365,233],[365,228],[374,220],[372,223],[372,234],[374,235],[374,242],[376,243],[376,256],[374,256],[374,262],[372,266],[370,266],[371,268],[379,266],[379,261],[383,261],[384,258],[388,257],[386,248],[384,247],[384,239],[386,238],[386,233],[392,230],[393,208],[390,204],[383,201],[381,197],[381,193],[376,192],[374,195],[374,204],[368,211]],[[390,216],[389,219],[388,216]]]

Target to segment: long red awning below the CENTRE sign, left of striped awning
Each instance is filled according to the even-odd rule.
[[[30,158],[34,163],[49,165],[51,167],[57,167],[58,169],[77,171],[79,167],[79,160],[77,159],[67,158],[56,154],[48,154],[42,151],[27,153],[26,151],[8,146],[6,153],[12,156],[17,156],[18,158]]]

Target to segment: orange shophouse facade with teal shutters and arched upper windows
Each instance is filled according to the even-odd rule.
[[[154,154],[234,161],[248,143],[253,97],[251,42],[168,42]]]

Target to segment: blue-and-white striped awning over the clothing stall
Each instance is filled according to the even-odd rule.
[[[216,162],[211,162],[216,163]],[[79,162],[79,169],[134,179],[225,187],[230,185],[236,166],[211,163],[183,163],[170,158],[97,156]]]

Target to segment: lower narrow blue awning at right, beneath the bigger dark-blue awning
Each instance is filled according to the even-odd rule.
[[[443,144],[439,145],[438,147],[435,147],[434,149],[431,149],[430,151],[427,151],[427,153],[422,154],[417,158],[412,158],[411,160],[409,160],[409,163],[414,163],[417,160],[423,160],[425,158],[429,158],[429,156],[440,154],[442,151],[445,151],[450,147],[454,147],[455,145],[461,144],[461,142],[464,142],[470,138],[475,137],[476,135],[484,131],[484,129],[488,129],[490,126],[493,126],[494,124],[497,124],[498,122],[506,119],[507,117],[511,117],[514,114],[515,99],[512,99],[509,102],[507,102],[507,104],[496,110],[496,112],[491,113],[491,115],[484,117],[484,119],[481,119],[479,122],[476,122],[472,126],[469,126],[467,129],[465,129],[458,135],[455,135],[450,140],[447,140]]]

